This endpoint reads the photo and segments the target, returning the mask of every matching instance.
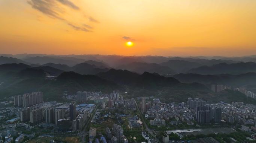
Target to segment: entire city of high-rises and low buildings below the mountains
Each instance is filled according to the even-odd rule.
[[[214,92],[231,89],[211,85]],[[255,98],[243,88],[233,90]],[[63,102],[43,92],[0,102],[0,143],[222,143],[256,139],[256,106],[198,98],[164,103],[153,96],[77,91]],[[69,141],[67,141],[70,139]]]

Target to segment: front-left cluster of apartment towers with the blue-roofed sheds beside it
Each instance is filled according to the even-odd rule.
[[[19,109],[21,122],[32,124],[43,123],[43,126],[57,125],[58,130],[81,131],[84,127],[88,112],[92,112],[94,104],[79,104],[76,102],[58,104],[56,102],[42,102],[31,107]],[[19,123],[19,127],[31,130],[31,126]]]

